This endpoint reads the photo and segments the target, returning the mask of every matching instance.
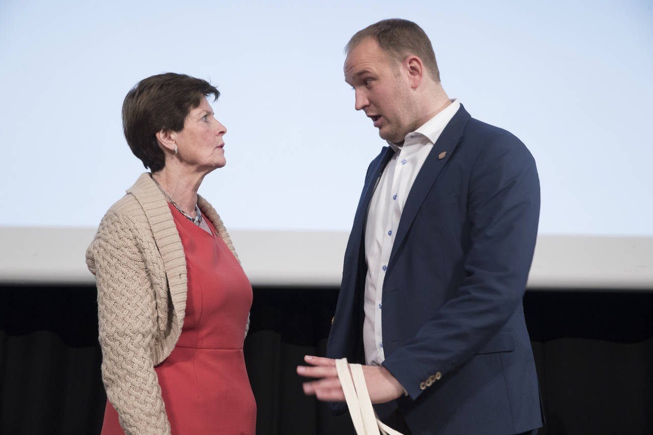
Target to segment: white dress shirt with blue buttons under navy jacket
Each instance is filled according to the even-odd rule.
[[[406,198],[426,156],[458,108],[460,103],[452,100],[451,105],[419,129],[408,133],[402,146],[388,142],[394,150],[394,156],[383,169],[374,189],[365,227],[368,272],[365,277],[363,345],[366,364],[381,365],[385,359],[381,331],[381,290]]]

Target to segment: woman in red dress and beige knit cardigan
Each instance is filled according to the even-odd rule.
[[[197,190],[225,165],[206,97],[182,74],[148,77],[123,103],[123,130],[146,168],[104,215],[86,252],[97,278],[103,434],[251,434],[243,358],[251,286],[229,234]]]

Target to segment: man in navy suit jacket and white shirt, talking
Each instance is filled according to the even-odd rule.
[[[372,161],[345,252],[327,357],[298,373],[342,401],[334,360],[364,362],[379,417],[407,434],[541,427],[522,297],[539,219],[518,138],[450,100],[422,29],[383,20],[346,48],[345,81],[389,146]]]

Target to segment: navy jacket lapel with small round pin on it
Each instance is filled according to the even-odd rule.
[[[419,208],[422,206],[424,199],[426,199],[426,195],[428,195],[431,187],[433,187],[438,179],[440,171],[445,167],[449,159],[451,159],[458,142],[462,139],[464,127],[470,118],[471,116],[467,110],[460,105],[460,109],[451,118],[451,121],[447,123],[447,126],[442,131],[438,140],[436,140],[431,152],[428,153],[426,161],[424,161],[424,165],[419,170],[419,174],[417,174],[417,178],[413,182],[413,187],[411,187],[408,193],[406,204],[404,204],[402,217],[397,228],[397,235],[394,239],[394,244],[392,244],[392,251],[390,252],[389,266],[392,265],[396,251],[404,242],[404,238],[406,238],[406,234],[415,220]]]

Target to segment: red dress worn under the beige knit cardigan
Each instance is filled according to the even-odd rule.
[[[188,290],[182,334],[155,366],[172,435],[254,435],[256,402],[243,357],[252,291],[236,257],[168,204],[182,239]],[[106,402],[102,435],[124,434]]]

